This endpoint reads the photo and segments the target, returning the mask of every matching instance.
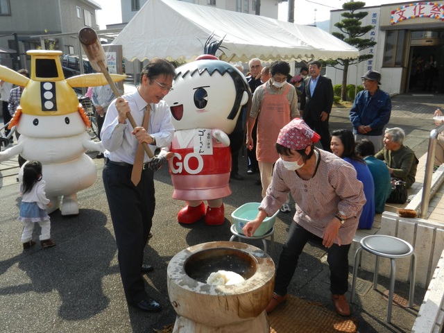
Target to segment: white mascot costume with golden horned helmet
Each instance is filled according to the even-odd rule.
[[[23,86],[20,106],[10,122],[21,134],[18,144],[0,153],[0,162],[15,155],[42,163],[48,213],[60,207],[62,215],[78,214],[77,192],[91,186],[97,177],[96,164],[85,154],[105,151],[101,142],[92,142],[86,132],[89,119],[72,87],[105,85],[103,74],[84,74],[65,80],[61,51],[28,51],[31,78],[0,66],[0,78]],[[112,74],[115,81],[126,76]],[[20,171],[22,174],[23,167]]]

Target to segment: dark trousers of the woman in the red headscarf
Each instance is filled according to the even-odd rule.
[[[276,271],[275,293],[278,295],[287,294],[287,288],[293,278],[296,266],[298,266],[299,255],[310,239],[322,242],[320,237],[305,230],[298,223],[294,221],[291,223],[287,242],[282,248]],[[333,244],[327,249],[327,262],[330,266],[330,291],[337,295],[343,295],[348,290],[348,250],[350,250],[350,244],[341,246]]]

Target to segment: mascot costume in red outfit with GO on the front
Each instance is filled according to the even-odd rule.
[[[244,75],[210,55],[176,69],[173,91],[165,96],[176,133],[169,158],[173,198],[187,205],[179,223],[205,216],[207,225],[225,221],[223,198],[231,194],[230,139],[242,105],[251,98]],[[205,204],[208,206],[205,212]]]

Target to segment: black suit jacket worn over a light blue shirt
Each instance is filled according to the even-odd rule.
[[[321,121],[321,112],[328,114],[332,111],[333,105],[333,85],[332,80],[325,76],[319,76],[313,96],[310,94],[311,77],[304,80],[304,91],[300,96],[300,110],[303,111],[302,119],[311,117],[314,121]]]

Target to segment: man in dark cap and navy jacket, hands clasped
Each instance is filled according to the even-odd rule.
[[[390,120],[391,99],[379,89],[381,74],[367,71],[361,76],[364,90],[359,92],[350,110],[350,121],[353,124],[355,141],[369,139],[375,145],[375,151],[382,149],[384,126]]]

